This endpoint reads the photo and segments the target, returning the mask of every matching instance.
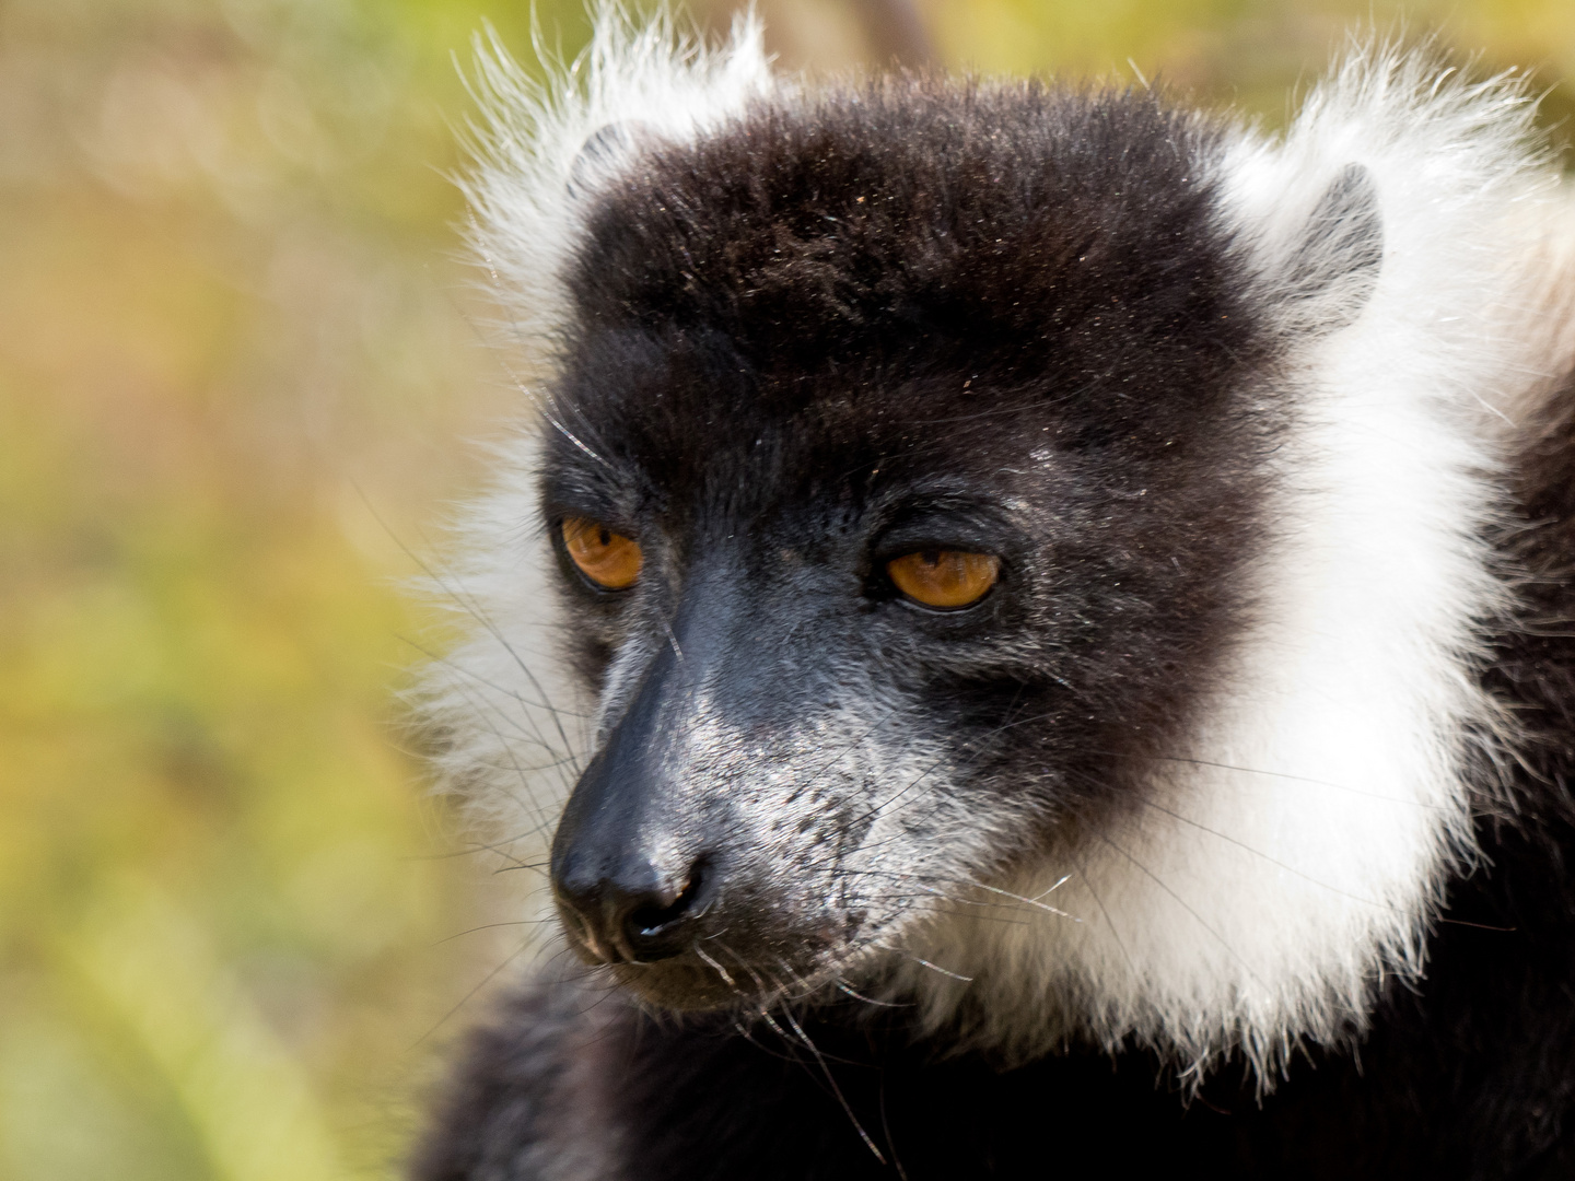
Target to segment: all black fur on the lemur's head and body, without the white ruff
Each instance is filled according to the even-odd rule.
[[[888,82],[641,151],[569,277],[543,505],[548,526],[649,542],[635,600],[565,578],[592,683],[630,636],[673,642],[614,712],[554,871],[610,824],[698,831],[685,857],[743,898],[717,902],[732,926],[706,921],[748,927],[740,964],[813,978],[857,939],[784,902],[813,857],[729,852],[742,805],[715,790],[649,803],[690,669],[772,731],[879,666],[917,727],[951,735],[969,790],[1035,794],[1003,860],[1096,824],[1252,609],[1235,572],[1262,545],[1260,458],[1293,422],[1282,329],[1219,214],[1217,132],[1148,96]],[[1370,241],[1353,250],[1372,263]],[[570,973],[474,1038],[413,1176],[1575,1175],[1575,384],[1548,406],[1501,545],[1523,613],[1484,674],[1531,740],[1507,787],[1484,784],[1509,806],[1484,808],[1485,864],[1452,885],[1425,983],[1391,986],[1354,1052],[1307,1052],[1262,1102],[1227,1064],[1183,1102],[1139,1050],[1003,1069],[915,1039],[902,1008],[652,1016]],[[925,543],[1000,553],[989,603],[899,609],[880,567]],[[674,1008],[717,1003],[704,975],[682,954],[621,970]]]

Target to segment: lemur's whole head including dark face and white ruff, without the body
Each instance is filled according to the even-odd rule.
[[[1348,132],[1422,68],[1375,58],[1276,146],[1148,93],[806,91],[748,30],[602,38],[578,107],[521,131],[506,96],[479,187],[548,378],[457,657],[506,682],[484,649],[542,605],[498,587],[554,567],[594,702],[551,844],[573,950],[669,1009],[843,989],[1008,1049],[1359,1024],[1468,853],[1495,605],[1492,460],[1438,383],[1498,357],[1406,310],[1487,315],[1492,268],[1391,276],[1471,203],[1391,233],[1429,145]],[[1403,99],[1354,93],[1384,69]],[[523,745],[472,724],[460,772]]]

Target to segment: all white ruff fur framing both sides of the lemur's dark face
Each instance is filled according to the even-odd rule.
[[[613,9],[554,90],[496,52],[482,74],[476,246],[528,348],[565,307],[558,277],[581,216],[569,184],[589,135],[635,120],[684,142],[751,98],[794,93],[769,74],[753,20],[704,54]],[[1044,901],[1079,921],[1025,907],[1025,924],[937,918],[910,932],[909,953],[973,978],[893,962],[936,1027],[972,1014],[965,1039],[1013,1053],[1136,1039],[1199,1075],[1240,1049],[1271,1079],[1298,1039],[1359,1030],[1384,973],[1422,972],[1446,876],[1474,855],[1466,735],[1503,729],[1476,668],[1479,628],[1506,608],[1482,540],[1504,411],[1548,361],[1547,283],[1529,261],[1548,178],[1525,148],[1529,106],[1509,85],[1436,77],[1429,58],[1358,52],[1284,139],[1236,132],[1228,216],[1265,294],[1350,164],[1378,194],[1377,287],[1282,378],[1299,411],[1274,457],[1273,537],[1225,688],[1126,825],[997,883],[1035,898],[1065,877]],[[572,690],[526,671],[554,665],[551,562],[521,524],[537,520],[529,452],[506,446],[498,491],[468,518],[444,589],[485,625],[430,679],[430,712],[455,735],[446,776],[510,833],[550,830],[573,781],[550,764],[592,729],[559,732],[542,701]]]

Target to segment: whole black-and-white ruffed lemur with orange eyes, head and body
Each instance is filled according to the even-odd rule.
[[[482,74],[536,403],[428,712],[562,934],[413,1176],[1575,1176],[1523,91],[1358,47],[1268,135],[614,9]]]

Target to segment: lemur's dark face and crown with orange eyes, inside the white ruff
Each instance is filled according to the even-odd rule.
[[[871,90],[643,151],[550,402],[600,702],[554,894],[665,1006],[855,987],[1140,806],[1251,613],[1271,329],[1213,134],[1142,96]]]

